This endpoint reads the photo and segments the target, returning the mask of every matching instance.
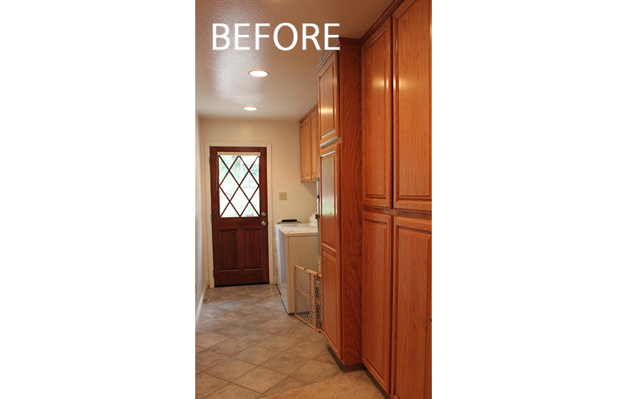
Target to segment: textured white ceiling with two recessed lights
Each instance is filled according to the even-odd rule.
[[[316,66],[324,50],[316,50],[311,41],[302,50],[302,24],[317,24],[318,42],[323,48],[324,24],[330,33],[361,38],[385,11],[391,0],[197,0],[196,1],[196,112],[204,118],[299,120],[318,102]],[[281,23],[293,24],[299,42],[290,51],[274,45],[272,32]],[[234,49],[234,24],[251,24],[240,33],[240,46],[254,43],[254,24],[266,23],[261,32],[259,51]],[[227,50],[212,49],[212,24],[227,24],[231,45]],[[221,31],[220,31],[221,32]],[[281,28],[279,41],[289,46],[293,38],[289,28]],[[331,40],[333,41],[333,39]],[[222,41],[218,42],[219,45]],[[265,78],[253,78],[248,71],[265,69]],[[246,111],[254,105],[257,111]]]

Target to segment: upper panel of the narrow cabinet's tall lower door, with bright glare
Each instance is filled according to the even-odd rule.
[[[322,249],[333,255],[338,252],[340,237],[338,146],[334,143],[321,150],[320,159],[320,238]]]

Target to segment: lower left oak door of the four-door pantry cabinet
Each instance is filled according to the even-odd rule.
[[[363,364],[390,393],[392,330],[392,217],[363,212]]]

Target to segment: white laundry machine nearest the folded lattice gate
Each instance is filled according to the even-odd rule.
[[[287,313],[294,313],[294,264],[305,269],[318,268],[318,227],[309,223],[275,224],[279,291]]]

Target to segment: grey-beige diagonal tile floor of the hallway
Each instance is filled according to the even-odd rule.
[[[196,325],[196,399],[254,399],[348,373],[289,316],[274,284],[207,289]]]

